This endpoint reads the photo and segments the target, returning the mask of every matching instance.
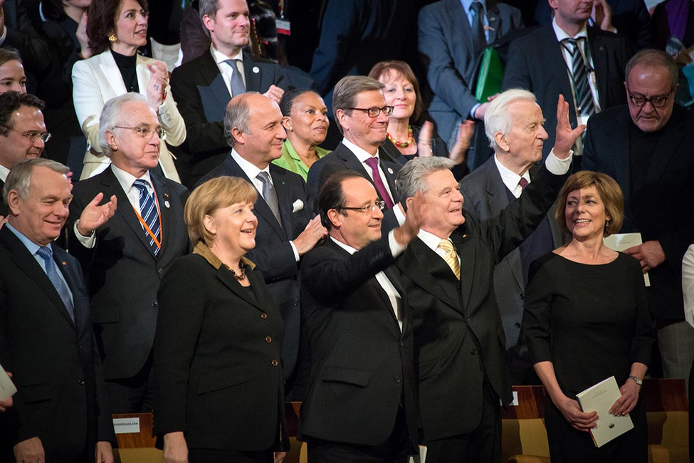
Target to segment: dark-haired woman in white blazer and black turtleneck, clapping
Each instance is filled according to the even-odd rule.
[[[166,142],[178,146],[186,139],[186,125],[169,90],[167,66],[137,53],[147,45],[147,16],[147,0],[98,0],[88,9],[87,36],[95,56],[73,67],[75,112],[89,144],[81,179],[102,172],[109,163],[99,148],[99,116],[104,103],[115,96],[146,96],[167,132]],[[159,149],[159,165],[164,175],[180,182],[167,143]]]

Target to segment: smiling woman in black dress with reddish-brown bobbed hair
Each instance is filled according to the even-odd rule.
[[[648,460],[646,412],[638,400],[655,340],[646,289],[638,261],[603,244],[621,228],[623,203],[607,175],[569,177],[559,192],[557,222],[572,239],[530,266],[523,330],[549,397],[553,463]],[[599,417],[583,412],[575,397],[613,375],[621,397],[610,413],[630,413],[634,428],[597,448],[588,431]]]

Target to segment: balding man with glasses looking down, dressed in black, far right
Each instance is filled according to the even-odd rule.
[[[678,68],[663,51],[643,50],[626,65],[627,105],[589,120],[583,167],[604,172],[624,192],[622,232],[643,244],[625,252],[641,261],[651,286],[666,378],[688,378],[694,328],[684,319],[681,266],[694,242],[694,115],[675,104]]]

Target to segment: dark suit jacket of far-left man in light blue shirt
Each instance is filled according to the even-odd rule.
[[[14,406],[0,413],[4,462],[31,437],[41,439],[48,462],[77,461],[85,449],[93,461],[97,440],[115,442],[82,271],[51,247],[73,293],[75,321],[26,246],[0,229],[0,363],[18,390]]]

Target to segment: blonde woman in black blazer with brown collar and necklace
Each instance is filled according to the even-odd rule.
[[[217,177],[186,204],[194,251],[164,274],[154,344],[164,462],[273,462],[288,448],[282,318],[243,257],[256,244],[256,197],[250,183]]]

